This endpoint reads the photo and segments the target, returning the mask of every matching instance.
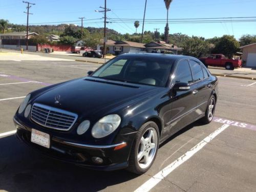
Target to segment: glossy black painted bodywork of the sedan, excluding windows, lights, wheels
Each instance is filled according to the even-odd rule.
[[[124,54],[127,56],[127,54]],[[164,55],[164,54],[129,54],[131,57],[167,57],[174,60],[174,65],[170,74],[175,74],[177,63],[181,59],[194,59],[187,56]],[[119,56],[119,57],[122,57]],[[105,64],[107,65],[107,63]],[[160,143],[168,137],[204,116],[208,99],[211,95],[218,95],[218,79],[209,74],[209,77],[190,84],[187,91],[174,91],[174,80],[170,77],[166,87],[154,87],[143,84],[118,82],[92,77],[83,77],[63,83],[59,83],[47,88],[31,93],[29,103],[41,103],[62,110],[70,111],[78,115],[77,122],[70,131],[57,131],[46,129],[30,118],[25,118],[23,113],[16,112],[14,119],[22,127],[18,128],[17,136],[29,137],[31,128],[52,136],[52,143],[73,154],[87,154],[86,157],[100,156],[107,158],[106,164],[95,165],[90,160],[81,162],[80,160],[69,160],[59,157],[57,154],[51,155],[52,150],[32,144],[29,138],[25,141],[29,145],[44,151],[46,155],[60,160],[70,161],[91,168],[118,169],[127,166],[127,160],[131,152],[134,135],[142,124],[147,121],[155,121],[159,126]],[[198,90],[197,94],[193,91]],[[61,95],[60,104],[54,104],[55,95]],[[198,112],[200,112],[198,114]],[[109,114],[118,114],[121,117],[121,124],[111,135],[95,139],[91,135],[92,126],[102,117]],[[83,120],[90,120],[91,126],[83,135],[77,135],[76,128]],[[23,128],[25,127],[25,128]],[[25,136],[27,135],[27,136]],[[118,151],[113,149],[95,150],[88,147],[78,147],[67,144],[64,141],[84,143],[92,145],[111,145],[126,142],[127,146]],[[72,154],[71,153],[71,154]],[[82,159],[82,158],[81,158]]]

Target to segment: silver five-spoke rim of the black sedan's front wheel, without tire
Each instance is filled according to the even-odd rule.
[[[140,139],[137,162],[140,168],[147,168],[155,158],[158,145],[157,131],[150,127],[146,129]]]

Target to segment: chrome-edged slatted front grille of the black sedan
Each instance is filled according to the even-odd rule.
[[[34,103],[31,110],[31,119],[51,129],[68,131],[76,122],[77,115],[51,106]]]

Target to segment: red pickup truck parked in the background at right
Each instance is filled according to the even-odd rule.
[[[226,59],[225,56],[221,54],[213,54],[209,57],[199,58],[199,60],[201,60],[201,62],[203,62],[206,67],[218,66],[225,67],[227,70],[233,70],[234,68],[242,67],[241,60]]]

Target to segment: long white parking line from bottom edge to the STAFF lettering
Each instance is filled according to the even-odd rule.
[[[224,124],[219,129],[217,129],[215,132],[211,133],[209,136],[205,137],[201,142],[199,142],[196,146],[191,148],[188,152],[186,152],[184,155],[179,157],[176,161],[172,162],[165,168],[163,168],[160,172],[158,172],[156,175],[154,175],[151,179],[147,180],[145,183],[143,183],[139,188],[135,190],[135,192],[139,191],[150,191],[154,186],[156,186],[160,181],[162,181],[166,176],[168,176],[170,173],[173,172],[177,167],[179,167],[182,163],[187,161],[190,157],[195,155],[197,152],[199,152],[207,143],[209,143],[212,139],[214,139],[217,135],[219,135],[221,132],[223,132],[225,129],[227,129],[229,125]]]

